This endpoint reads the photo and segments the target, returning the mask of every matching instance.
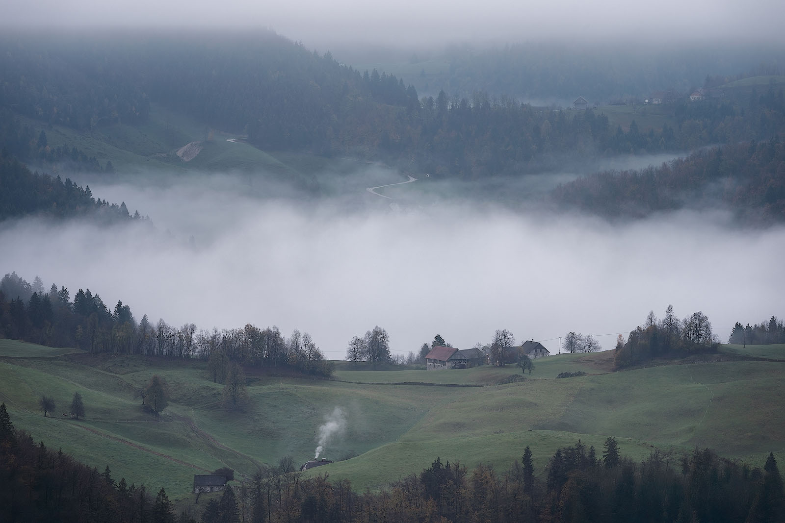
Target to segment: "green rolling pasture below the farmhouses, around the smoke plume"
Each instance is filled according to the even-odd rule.
[[[738,354],[736,347],[724,350]],[[785,363],[714,361],[625,372],[610,372],[611,365],[610,353],[551,356],[535,361],[524,380],[512,365],[442,372],[341,365],[335,380],[249,369],[250,408],[227,412],[218,403],[222,387],[209,380],[203,362],[62,354],[15,342],[0,344],[0,400],[37,440],[100,469],[108,463],[117,478],[161,485],[183,501],[192,474],[227,465],[242,476],[281,456],[310,459],[318,427],[336,406],[347,427],[323,456],[341,461],[306,474],[349,478],[360,490],[418,473],[436,456],[506,468],[526,445],[542,474],[558,447],[581,438],[601,452],[608,435],[635,459],[655,448],[680,453],[696,446],[755,465],[768,452],[785,458],[785,398],[778,393]],[[576,370],[587,375],[556,379]],[[157,417],[136,396],[153,374],[172,390],[169,408]],[[60,416],[75,390],[86,406],[79,421]],[[52,418],[38,411],[42,394],[57,400]]]

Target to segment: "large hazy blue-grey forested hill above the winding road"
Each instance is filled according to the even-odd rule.
[[[465,180],[558,169],[565,160],[597,154],[680,151],[785,134],[781,89],[692,106],[677,101],[665,123],[639,131],[634,122],[609,123],[601,111],[556,111],[479,93],[471,100],[444,92],[419,99],[400,78],[356,71],[271,31],[6,35],[0,51],[4,143],[34,156],[81,158],[79,151],[37,147],[39,137],[13,123],[17,116],[89,133],[144,122],[151,101],[215,129],[247,133],[264,151],[351,155]]]

